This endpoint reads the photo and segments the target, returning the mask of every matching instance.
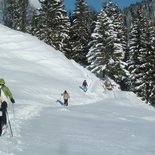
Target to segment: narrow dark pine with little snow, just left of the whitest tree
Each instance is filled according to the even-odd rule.
[[[71,58],[80,64],[87,64],[86,54],[91,36],[92,14],[85,0],[76,0],[71,25],[72,53]]]

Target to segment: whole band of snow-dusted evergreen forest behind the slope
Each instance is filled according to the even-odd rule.
[[[100,79],[108,76],[155,105],[155,31],[140,10],[128,28],[113,2],[96,12],[85,0],[76,0],[70,13],[63,0],[39,2],[35,9],[28,0],[3,0],[4,25],[38,37]]]

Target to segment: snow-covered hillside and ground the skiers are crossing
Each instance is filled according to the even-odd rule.
[[[0,78],[16,103],[0,155],[154,155],[155,109],[37,38],[0,25]],[[87,80],[84,93],[79,86]],[[71,96],[64,107],[61,93]]]

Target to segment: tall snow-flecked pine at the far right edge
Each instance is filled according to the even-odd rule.
[[[140,11],[133,19],[129,42],[131,90],[150,102],[155,80],[154,30]]]

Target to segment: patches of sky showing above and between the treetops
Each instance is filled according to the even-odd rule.
[[[106,0],[86,0],[88,5],[92,6],[97,11],[101,10],[103,2]],[[124,7],[129,6],[130,4],[140,2],[142,0],[113,0],[112,2],[117,3],[118,6],[123,9]],[[31,0],[35,6],[39,6],[38,0]],[[75,7],[75,0],[64,0],[65,7],[68,11],[73,11]]]

